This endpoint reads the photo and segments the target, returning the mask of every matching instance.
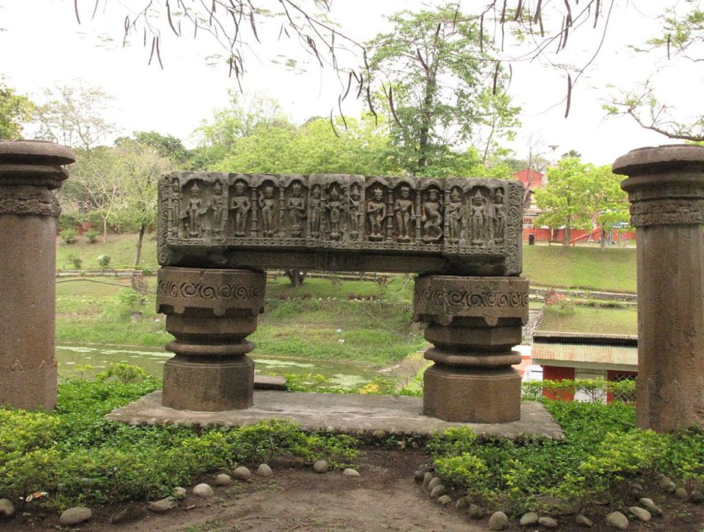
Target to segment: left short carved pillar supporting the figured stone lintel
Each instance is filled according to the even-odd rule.
[[[254,343],[245,338],[264,310],[266,274],[163,267],[156,306],[166,315],[175,357],[164,366],[163,405],[216,412],[252,405]]]

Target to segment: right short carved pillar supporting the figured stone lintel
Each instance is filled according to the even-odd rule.
[[[415,281],[414,319],[434,347],[423,376],[423,413],[445,421],[503,423],[521,417],[521,377],[511,366],[528,319],[522,277],[426,275]]]

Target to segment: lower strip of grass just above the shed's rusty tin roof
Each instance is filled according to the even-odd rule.
[[[635,309],[576,307],[572,312],[546,308],[541,331],[638,334]]]

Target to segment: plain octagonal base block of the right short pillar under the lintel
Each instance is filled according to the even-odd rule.
[[[521,417],[521,376],[513,368],[448,369],[423,374],[423,414],[449,422],[506,423]]]

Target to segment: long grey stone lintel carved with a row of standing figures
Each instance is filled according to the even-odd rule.
[[[390,271],[520,274],[522,189],[503,179],[173,172],[159,184],[163,266],[310,268],[319,253]],[[396,260],[403,255],[402,260]]]

